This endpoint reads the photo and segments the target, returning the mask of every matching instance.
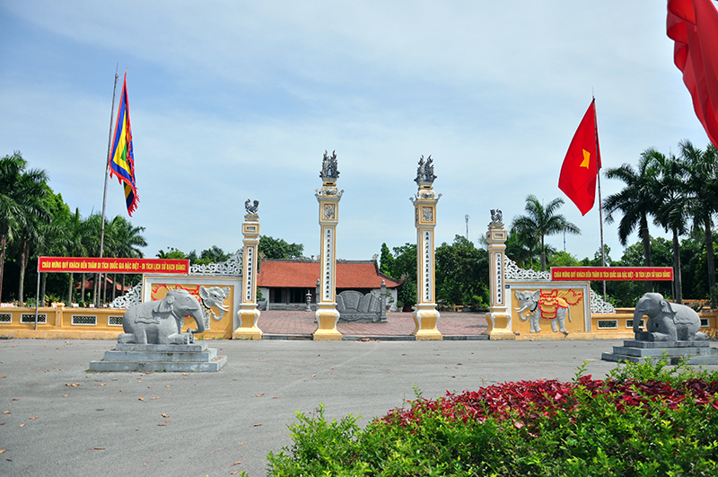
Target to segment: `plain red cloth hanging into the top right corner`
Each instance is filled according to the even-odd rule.
[[[669,0],[666,32],[696,116],[718,146],[718,11],[711,0]]]

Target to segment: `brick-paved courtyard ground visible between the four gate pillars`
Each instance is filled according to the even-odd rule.
[[[310,336],[317,329],[314,312],[261,312],[259,329],[269,335]],[[474,336],[486,330],[486,315],[441,312],[436,328],[447,336]],[[387,314],[385,323],[339,322],[337,330],[345,336],[403,336],[414,331],[410,313]]]

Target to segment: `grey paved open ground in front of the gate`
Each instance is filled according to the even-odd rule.
[[[413,397],[571,380],[619,340],[226,341],[218,373],[88,373],[107,340],[0,340],[0,475],[265,475],[294,412],[366,423]],[[718,369],[718,366],[709,367]],[[163,416],[164,415],[164,416]],[[166,416],[166,417],[165,417]],[[241,464],[232,465],[241,461]]]

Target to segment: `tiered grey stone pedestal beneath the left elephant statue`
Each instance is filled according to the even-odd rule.
[[[105,351],[100,361],[92,361],[95,372],[139,371],[143,373],[197,373],[219,371],[227,363],[226,356],[217,356],[216,348],[206,343],[124,344]]]

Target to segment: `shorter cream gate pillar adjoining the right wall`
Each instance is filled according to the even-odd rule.
[[[511,296],[506,296],[504,287],[506,280],[505,257],[506,230],[503,228],[501,210],[491,211],[491,223],[486,232],[488,242],[489,290],[491,306],[486,314],[488,327],[485,333],[491,340],[514,340],[511,329],[511,313],[509,304]]]

